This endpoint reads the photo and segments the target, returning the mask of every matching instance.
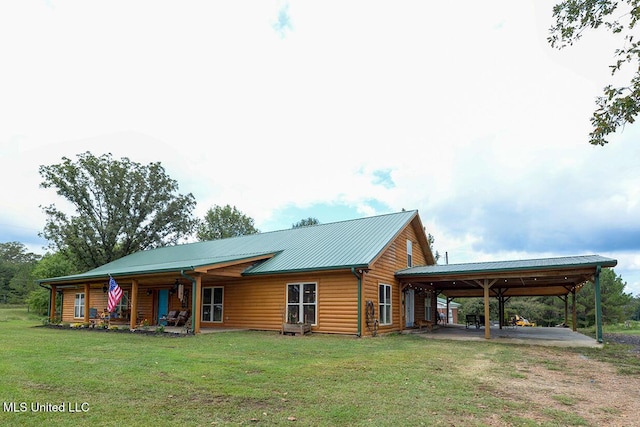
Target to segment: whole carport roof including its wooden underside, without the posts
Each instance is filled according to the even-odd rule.
[[[566,295],[590,280],[598,267],[617,261],[599,255],[428,265],[396,272],[405,283],[421,284],[448,297],[480,297],[483,285],[503,296]]]

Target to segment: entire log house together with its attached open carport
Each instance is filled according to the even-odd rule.
[[[103,313],[112,276],[124,290],[113,321],[135,329],[182,311],[196,333],[304,323],[315,332],[375,335],[411,328],[417,319],[435,322],[439,312],[457,323],[453,299],[482,297],[490,338],[489,298],[498,299],[503,319],[512,297],[557,296],[575,330],[575,294],[592,281],[602,342],[599,275],[616,264],[586,255],[437,265],[418,212],[403,211],[141,251],[40,284],[51,289],[51,317],[63,322]],[[54,310],[58,298],[61,313]]]

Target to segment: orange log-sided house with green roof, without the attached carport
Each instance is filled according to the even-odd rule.
[[[51,316],[63,322],[104,312],[112,276],[124,291],[113,320],[131,328],[187,311],[195,332],[305,322],[312,331],[361,336],[400,331],[416,316],[435,319],[436,295],[395,277],[432,264],[418,212],[403,211],[141,251],[41,284],[52,290]]]

